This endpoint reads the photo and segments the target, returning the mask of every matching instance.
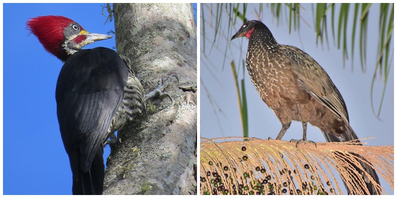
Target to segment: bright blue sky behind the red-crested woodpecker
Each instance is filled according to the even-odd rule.
[[[105,24],[101,5],[3,4],[4,195],[71,194],[72,176],[55,102],[63,63],[45,51],[34,35],[29,35],[26,21],[41,15],[62,15],[89,32],[106,34],[115,28],[113,22]],[[115,38],[86,48],[98,46],[115,47]]]

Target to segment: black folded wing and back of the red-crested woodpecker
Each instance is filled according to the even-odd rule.
[[[128,78],[116,51],[80,50],[70,56],[58,78],[56,99],[60,130],[73,173],[88,171],[97,147],[110,127]],[[74,166],[74,167],[73,167]]]

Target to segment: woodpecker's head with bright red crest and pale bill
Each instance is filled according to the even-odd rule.
[[[63,16],[38,16],[30,18],[26,25],[43,47],[62,61],[90,43],[112,38],[110,35],[89,33]]]

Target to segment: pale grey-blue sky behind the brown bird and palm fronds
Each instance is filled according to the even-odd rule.
[[[277,25],[277,21],[271,15],[267,5],[264,5],[263,12],[259,18],[257,14],[259,12],[259,4],[248,4],[246,17],[248,20],[255,19],[264,22],[278,43],[303,49],[320,63],[343,96],[348,109],[350,125],[357,136],[359,138],[375,137],[375,139],[368,139],[363,142],[368,143],[368,146],[394,145],[394,60],[392,61],[380,119],[376,118],[372,112],[370,101],[371,81],[377,58],[380,5],[372,5],[369,13],[366,73],[363,73],[360,67],[360,55],[358,53],[359,26],[356,31],[357,52],[354,54],[354,71],[352,72],[351,60],[346,61],[346,67],[343,69],[342,51],[334,47],[335,44],[332,40],[330,27],[331,20],[328,20],[330,48],[328,49],[326,44],[324,47],[321,45],[317,47],[311,4],[304,3],[301,5],[304,9],[301,9],[300,15],[308,22],[310,27],[301,21],[300,31],[292,30],[291,34],[288,33],[288,11],[285,9],[282,10],[279,25]],[[340,4],[337,6],[340,6]],[[248,76],[247,69],[242,65],[242,59],[245,61],[246,57],[248,39],[243,37],[230,41],[243,22],[237,19],[232,31],[228,32],[227,14],[229,14],[229,8],[226,10],[223,7],[224,15],[221,17],[222,23],[218,32],[218,34],[221,34],[221,39],[217,37],[212,47],[215,27],[214,18],[217,16],[217,7],[216,4],[200,4],[200,9],[200,137],[211,139],[243,136],[237,90],[230,66],[231,61],[234,60],[236,67],[239,68],[237,71],[239,79],[242,78],[243,70],[245,73],[249,137],[260,139],[276,138],[281,129],[281,123],[260,98]],[[240,5],[239,11],[242,12],[242,10],[242,5]],[[350,6],[350,11],[353,12],[353,6]],[[352,15],[352,13],[350,14]],[[202,16],[205,16],[204,20]],[[352,19],[353,17],[351,16],[349,18],[348,35],[351,35]],[[202,35],[203,23],[205,23],[205,35]],[[337,24],[337,21],[335,24]],[[203,54],[204,41],[206,42],[205,55]],[[348,42],[350,42],[350,39],[348,39]],[[392,37],[391,45],[391,53],[394,53],[394,37]],[[226,60],[223,65],[226,48]],[[348,49],[349,57],[351,56],[350,50]],[[381,98],[383,81],[384,78],[379,78],[378,76],[374,86],[374,106],[376,111]],[[212,104],[210,98],[212,99]],[[308,125],[307,131],[308,140],[325,142],[324,136],[318,128]],[[283,140],[289,141],[301,138],[302,124],[292,122]],[[381,179],[381,185],[383,185],[388,194],[393,194],[393,190],[385,180]]]

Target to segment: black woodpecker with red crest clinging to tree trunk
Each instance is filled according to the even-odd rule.
[[[56,86],[57,116],[73,174],[73,195],[102,195],[103,141],[146,109],[146,95],[131,65],[114,50],[81,49],[112,38],[89,33],[63,16],[30,18],[27,29],[64,62]]]

